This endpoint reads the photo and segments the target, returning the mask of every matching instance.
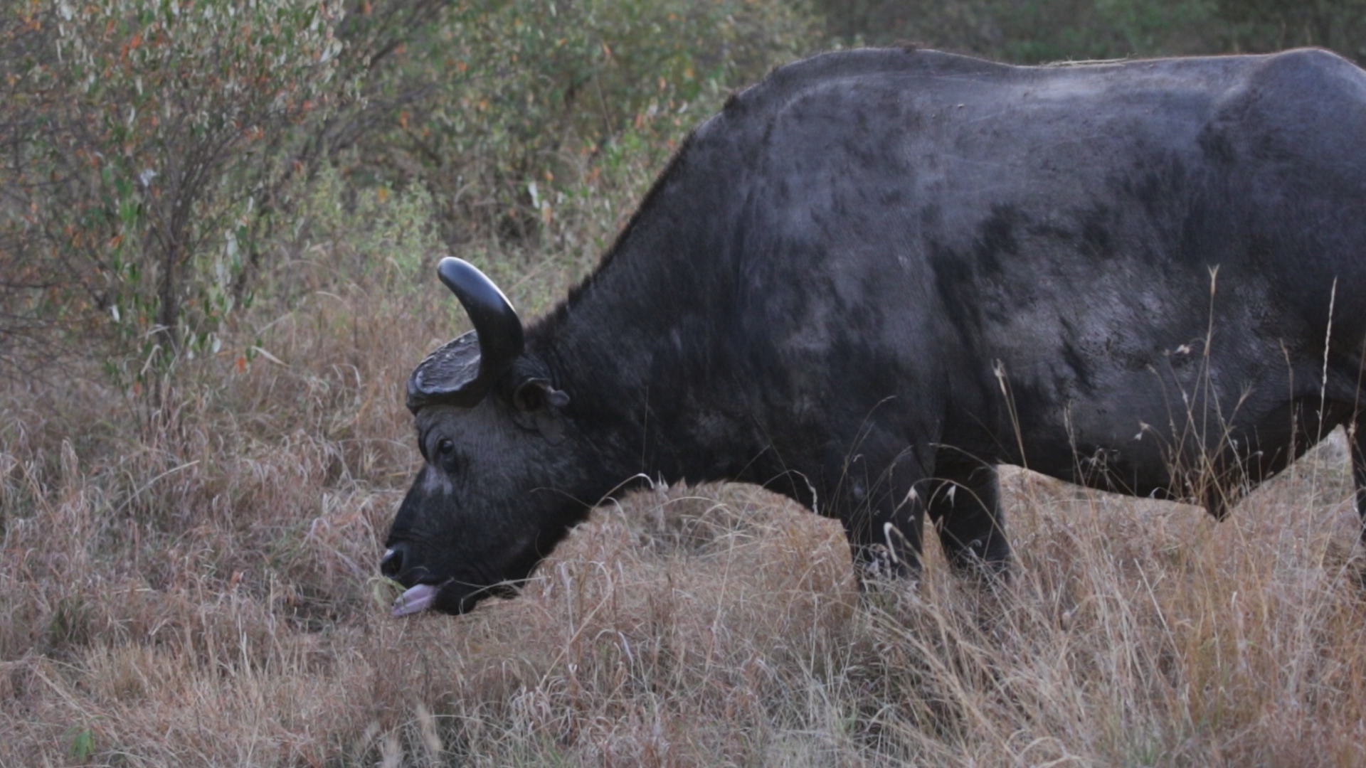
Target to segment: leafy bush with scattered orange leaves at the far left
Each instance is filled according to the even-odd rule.
[[[283,137],[328,101],[339,10],[102,0],[5,12],[14,34],[0,42],[20,56],[5,63],[16,98],[3,108],[0,183],[20,247],[0,258],[45,288],[8,294],[11,313],[38,302],[67,331],[112,328],[142,372],[210,344]]]

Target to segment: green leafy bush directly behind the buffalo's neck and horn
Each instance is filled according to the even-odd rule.
[[[451,243],[526,242],[586,176],[653,176],[732,87],[816,40],[783,0],[460,3],[372,78],[392,122],[346,163],[359,183],[426,186]]]

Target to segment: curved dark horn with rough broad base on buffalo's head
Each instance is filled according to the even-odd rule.
[[[519,354],[522,320],[503,291],[466,261],[445,257],[437,277],[474,323],[474,331],[429,354],[408,377],[408,410],[432,404],[473,407]]]

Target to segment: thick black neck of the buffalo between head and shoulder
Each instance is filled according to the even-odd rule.
[[[762,451],[759,381],[735,323],[739,251],[723,236],[743,228],[743,189],[701,172],[716,148],[698,145],[684,145],[598,269],[527,333],[597,454],[608,488],[585,491],[642,474],[736,480]]]

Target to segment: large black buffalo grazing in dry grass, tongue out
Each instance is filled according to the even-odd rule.
[[[396,614],[508,592],[637,478],[844,523],[861,574],[1000,571],[996,465],[1216,517],[1337,425],[1366,340],[1366,72],[1324,51],[1011,67],[852,51],[777,70],[678,152],[523,332],[414,370],[426,466]]]

